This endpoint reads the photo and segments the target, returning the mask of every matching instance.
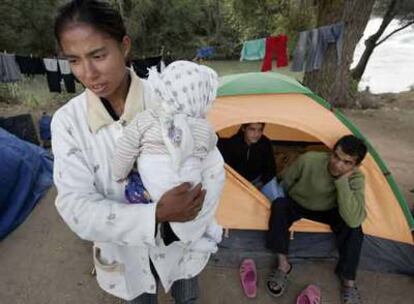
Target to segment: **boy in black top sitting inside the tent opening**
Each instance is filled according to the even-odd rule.
[[[232,137],[221,138],[218,148],[224,161],[272,202],[284,193],[276,180],[272,144],[263,135],[264,127],[263,122],[243,124]]]

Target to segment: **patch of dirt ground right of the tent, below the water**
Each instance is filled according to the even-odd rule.
[[[414,206],[414,92],[369,97],[379,109],[344,110],[374,146]],[[413,191],[411,191],[413,190]]]

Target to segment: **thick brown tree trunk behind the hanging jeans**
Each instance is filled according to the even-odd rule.
[[[355,104],[356,84],[350,66],[354,50],[368,23],[375,0],[320,0],[317,26],[343,21],[342,60],[337,64],[336,45],[328,46],[320,70],[306,72],[304,84],[333,106]]]

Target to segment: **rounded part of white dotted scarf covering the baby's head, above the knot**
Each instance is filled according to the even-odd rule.
[[[216,98],[217,73],[191,61],[175,61],[159,74],[149,71],[148,81],[167,115],[204,118]]]

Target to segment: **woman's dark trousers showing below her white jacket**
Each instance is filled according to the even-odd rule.
[[[199,295],[198,277],[178,280],[171,286],[171,295],[176,304],[195,304]],[[157,304],[157,294],[144,293],[128,301],[129,304]]]

